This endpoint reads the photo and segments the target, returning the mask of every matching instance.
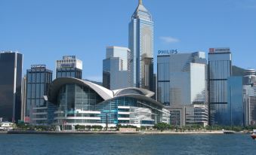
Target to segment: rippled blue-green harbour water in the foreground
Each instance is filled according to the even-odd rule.
[[[232,135],[8,135],[1,155],[25,154],[256,154],[256,141]]]

